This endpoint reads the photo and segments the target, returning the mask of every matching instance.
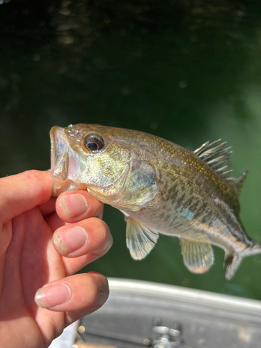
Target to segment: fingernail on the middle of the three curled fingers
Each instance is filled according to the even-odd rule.
[[[59,253],[65,255],[84,246],[88,241],[88,234],[84,228],[74,226],[56,230],[53,240]]]

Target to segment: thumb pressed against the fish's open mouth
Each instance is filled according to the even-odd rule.
[[[6,223],[52,196],[48,171],[26,171],[0,179],[0,222]]]

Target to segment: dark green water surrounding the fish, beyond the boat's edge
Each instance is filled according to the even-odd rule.
[[[139,129],[194,150],[221,138],[261,242],[260,1],[0,1],[0,175],[49,168],[49,129],[100,123]],[[224,278],[214,248],[207,274],[184,267],[177,239],[161,236],[135,262],[120,212],[105,207],[111,251],[86,267],[261,299],[261,255]]]

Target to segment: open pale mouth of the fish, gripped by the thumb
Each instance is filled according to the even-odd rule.
[[[57,197],[64,191],[75,189],[86,189],[86,185],[79,184],[72,180],[69,175],[70,146],[64,128],[54,126],[50,131],[51,138],[51,177],[54,180],[52,196]],[[74,165],[71,170],[77,169],[77,159],[74,156]],[[74,175],[75,176],[75,175]]]

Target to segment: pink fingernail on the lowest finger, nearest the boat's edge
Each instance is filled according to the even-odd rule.
[[[35,302],[42,308],[54,307],[70,299],[71,292],[68,285],[56,284],[40,287],[35,294]]]

